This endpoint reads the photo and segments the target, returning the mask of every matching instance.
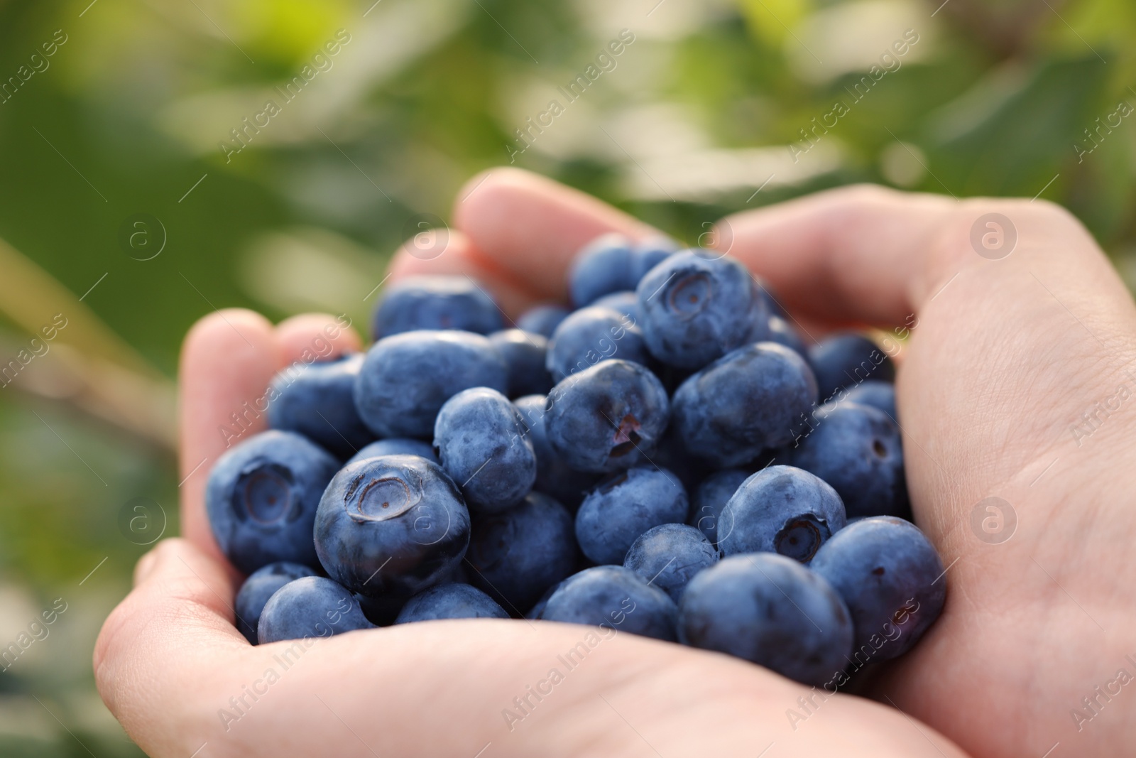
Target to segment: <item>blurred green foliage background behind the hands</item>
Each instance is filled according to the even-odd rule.
[[[688,243],[724,213],[849,182],[1038,195],[1136,269],[1136,119],[1114,116],[1136,103],[1136,7],[939,2],[0,1],[0,238],[76,297],[98,283],[85,305],[170,378],[214,308],[365,318],[408,219],[448,217],[627,28],[615,68],[517,165]],[[351,41],[331,68],[226,159],[231,130],[337,30]],[[918,43],[900,55],[908,30]],[[857,99],[883,55],[897,67]],[[794,161],[837,101],[847,114]],[[151,260],[120,242],[140,213],[165,230]],[[47,308],[0,323],[0,359]],[[176,532],[174,463],[32,381],[0,390],[0,644],[57,597],[72,610],[0,674],[0,753],[137,755],[94,694],[90,652],[145,549],[119,531],[123,503],[152,498]]]

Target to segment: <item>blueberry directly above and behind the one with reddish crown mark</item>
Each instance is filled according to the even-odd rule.
[[[545,367],[557,382],[610,358],[644,366],[650,353],[643,331],[632,318],[612,308],[590,306],[560,322],[549,342]]]

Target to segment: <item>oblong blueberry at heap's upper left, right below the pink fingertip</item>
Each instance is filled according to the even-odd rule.
[[[468,276],[410,276],[396,282],[371,319],[376,340],[415,330],[488,334],[503,326],[501,309]]]

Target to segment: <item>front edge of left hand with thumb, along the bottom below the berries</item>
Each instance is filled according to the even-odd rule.
[[[103,626],[95,683],[148,755],[742,755],[760,740],[962,756],[868,700],[610,626],[451,619],[252,648],[232,598],[218,561],[167,540]],[[383,708],[376,691],[392,694]]]

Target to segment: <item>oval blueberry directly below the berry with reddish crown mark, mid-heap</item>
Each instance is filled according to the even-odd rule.
[[[612,475],[576,513],[576,540],[598,564],[621,564],[638,535],[660,524],[682,524],[686,490],[668,470],[637,466]]]

